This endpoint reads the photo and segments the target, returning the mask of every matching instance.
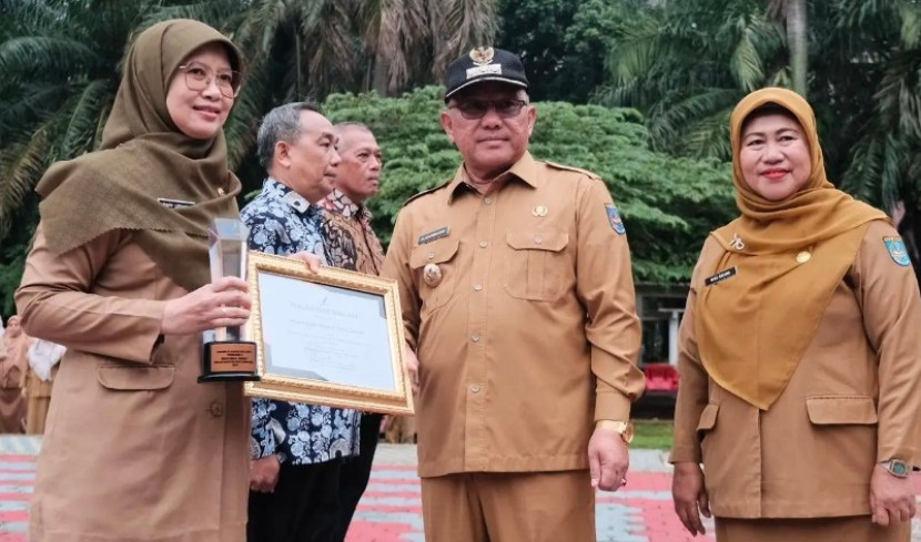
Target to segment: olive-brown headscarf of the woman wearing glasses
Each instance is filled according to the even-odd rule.
[[[209,43],[223,44],[241,70],[240,51],[208,24],[175,19],[138,35],[100,151],[53,164],[36,188],[53,252],[134,229],[144,253],[176,284],[191,290],[210,282],[208,229],[214,217],[239,217],[240,181],[227,170],[223,130],[210,140],[191,139],[166,110],[176,69]],[[159,198],[194,205],[168,208]]]

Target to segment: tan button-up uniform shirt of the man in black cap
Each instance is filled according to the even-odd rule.
[[[384,263],[421,364],[419,474],[585,469],[595,420],[644,387],[610,193],[529,154],[485,196],[465,178],[403,208]]]

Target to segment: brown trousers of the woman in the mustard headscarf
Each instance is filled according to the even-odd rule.
[[[716,519],[717,542],[909,542],[911,523],[883,529],[869,515],[817,519]]]

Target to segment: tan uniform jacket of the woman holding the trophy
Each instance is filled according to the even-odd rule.
[[[196,382],[199,335],[156,346],[186,292],[112,231],[63,255],[41,234],[16,300],[64,345],[38,461],[32,542],[243,542],[249,401]]]

